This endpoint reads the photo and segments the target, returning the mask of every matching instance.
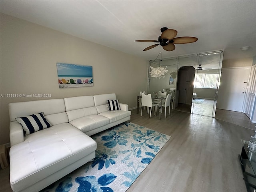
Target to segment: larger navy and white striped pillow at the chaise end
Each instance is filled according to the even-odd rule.
[[[52,126],[44,117],[43,112],[26,117],[18,117],[16,120],[22,125],[25,136]]]

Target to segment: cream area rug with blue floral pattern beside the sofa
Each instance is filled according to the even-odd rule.
[[[170,136],[125,122],[92,136],[96,158],[41,192],[125,192]]]

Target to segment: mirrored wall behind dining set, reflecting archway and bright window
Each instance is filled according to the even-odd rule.
[[[149,76],[148,93],[165,89],[172,94],[172,109],[214,117],[222,59],[223,51],[218,51],[150,61],[150,66],[164,67],[168,73]]]

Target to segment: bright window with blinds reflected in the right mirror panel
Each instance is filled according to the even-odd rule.
[[[218,74],[196,74],[195,88],[217,88]]]

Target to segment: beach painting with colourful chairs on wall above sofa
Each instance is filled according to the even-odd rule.
[[[57,63],[59,88],[93,86],[92,66]]]

